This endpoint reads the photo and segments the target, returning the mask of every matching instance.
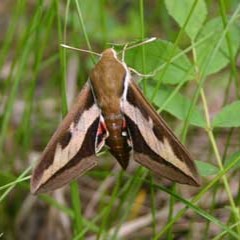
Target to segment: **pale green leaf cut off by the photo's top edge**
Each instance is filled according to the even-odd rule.
[[[165,0],[165,5],[168,13],[174,18],[180,27],[183,27],[195,2],[196,0]],[[189,38],[194,39],[196,37],[206,19],[206,16],[207,8],[205,1],[197,0],[194,10],[185,28]]]

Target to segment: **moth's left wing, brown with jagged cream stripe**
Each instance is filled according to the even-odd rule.
[[[47,192],[97,164],[95,140],[100,110],[87,82],[46,146],[31,177],[31,192]]]

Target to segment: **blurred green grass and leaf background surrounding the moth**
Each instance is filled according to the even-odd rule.
[[[3,239],[239,239],[238,0],[0,2],[0,236]],[[30,169],[101,52],[126,52],[139,83],[195,157],[202,186],[175,185],[104,152],[52,194]]]

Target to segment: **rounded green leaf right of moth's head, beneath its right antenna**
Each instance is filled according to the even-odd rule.
[[[148,43],[145,48],[145,73],[152,73],[154,70],[159,69],[155,79],[168,84],[177,84],[182,81],[188,81],[193,77],[190,76],[192,64],[187,56],[182,53],[179,48],[175,48],[170,42],[163,40],[156,40]],[[171,61],[166,70],[163,70],[169,58],[173,59],[178,56],[176,60]],[[140,47],[130,49],[126,52],[126,63],[128,66],[133,67],[139,72],[143,72],[142,65],[142,49]]]

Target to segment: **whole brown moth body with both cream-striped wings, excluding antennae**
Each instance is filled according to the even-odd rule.
[[[172,181],[199,185],[187,149],[156,113],[113,48],[106,49],[46,146],[31,192],[52,191],[97,165],[104,145],[126,169],[133,158]]]

